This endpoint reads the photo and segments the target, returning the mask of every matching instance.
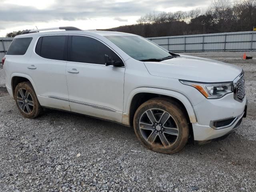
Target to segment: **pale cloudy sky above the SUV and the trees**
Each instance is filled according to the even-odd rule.
[[[0,0],[0,4],[2,37],[36,26],[87,30],[134,24],[149,12],[205,9],[211,0]]]

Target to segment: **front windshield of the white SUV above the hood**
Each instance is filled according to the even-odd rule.
[[[136,60],[162,59],[170,56],[164,49],[140,36],[105,36]]]

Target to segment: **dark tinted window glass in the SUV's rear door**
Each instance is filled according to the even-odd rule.
[[[67,60],[68,36],[43,36],[36,44],[36,54],[46,59]]]

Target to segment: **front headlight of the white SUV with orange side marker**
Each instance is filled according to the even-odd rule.
[[[190,85],[200,91],[208,99],[221,98],[224,95],[231,93],[233,91],[232,82],[224,83],[202,83],[180,80],[182,84]]]

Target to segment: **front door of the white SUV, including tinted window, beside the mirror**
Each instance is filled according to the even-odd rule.
[[[105,54],[123,66],[105,66]],[[124,71],[120,56],[103,42],[70,35],[66,74],[71,111],[121,122]]]

